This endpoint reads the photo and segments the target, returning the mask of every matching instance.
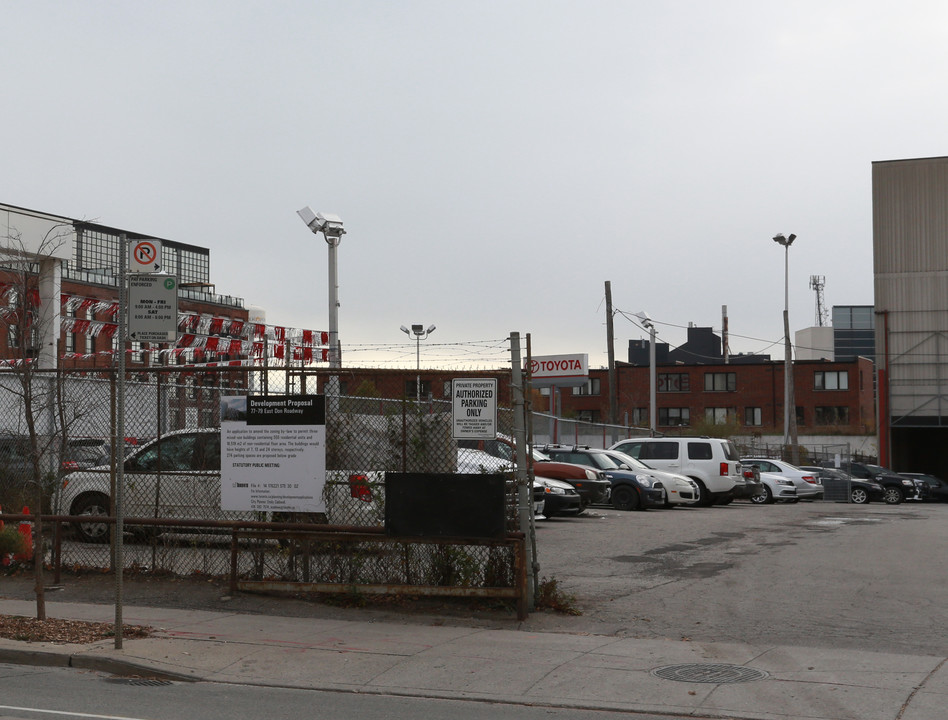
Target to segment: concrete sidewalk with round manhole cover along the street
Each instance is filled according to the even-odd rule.
[[[2,614],[35,610],[0,599]],[[115,619],[84,603],[47,602],[47,615]],[[122,650],[0,639],[0,662],[699,717],[943,720],[948,705],[946,659],[932,656],[137,606],[123,622],[156,633]]]

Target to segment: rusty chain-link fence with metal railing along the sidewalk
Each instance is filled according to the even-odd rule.
[[[221,467],[230,457],[230,436],[222,433],[221,418],[228,422],[242,398],[294,397],[284,392],[288,377],[259,368],[136,372],[123,388],[124,433],[117,441],[114,373],[2,374],[0,507],[5,513],[41,508],[48,519],[47,562],[57,572],[114,569],[120,545],[126,571],[230,577],[270,588],[293,583],[325,592],[522,600],[527,562],[521,510],[529,496],[510,472],[511,459],[453,439],[450,402],[341,396],[330,379],[322,503],[309,511],[224,509],[228,480]],[[315,372],[307,377],[300,371],[291,389],[307,385],[316,387]],[[513,437],[509,408],[498,410],[497,425],[499,435]],[[292,442],[278,434],[272,442],[274,462],[261,463],[267,467],[254,471],[255,480],[292,496],[305,486],[286,470],[288,465],[298,473],[300,467],[280,461],[292,456]],[[121,543],[115,543],[115,458],[125,458]],[[430,496],[402,503],[426,527],[455,494],[505,473],[501,532],[467,538],[453,536],[451,528],[428,536],[387,534],[391,473],[444,479]],[[457,473],[470,481],[458,480]]]

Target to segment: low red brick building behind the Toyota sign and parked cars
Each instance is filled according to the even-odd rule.
[[[783,429],[782,361],[742,364],[661,365],[656,368],[657,430],[669,432],[698,423],[736,420],[750,432],[770,434]],[[416,370],[342,368],[344,395],[374,394],[383,398],[414,398]],[[451,379],[491,377],[498,380],[500,402],[510,402],[510,370],[455,372],[421,370],[421,394],[450,399]],[[329,373],[320,373],[322,392]],[[867,358],[844,362],[797,361],[793,364],[797,426],[804,434],[865,434],[875,426],[873,363]],[[649,368],[618,363],[616,421],[649,426]],[[535,389],[533,409],[549,411],[549,390]],[[579,388],[560,391],[563,417],[609,422],[609,373],[589,371]]]

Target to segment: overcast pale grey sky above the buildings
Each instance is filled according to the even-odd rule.
[[[871,163],[946,154],[948,4],[4,3],[0,202],[209,247],[218,292],[345,365],[606,362],[604,284],[659,338],[871,304]],[[644,332],[619,315],[616,357]]]

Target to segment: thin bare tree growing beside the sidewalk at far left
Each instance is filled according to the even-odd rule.
[[[5,305],[0,305],[0,329],[7,332],[7,368],[16,378],[4,389],[19,397],[20,414],[14,441],[24,444],[28,462],[19,480],[34,517],[33,568],[36,617],[46,619],[43,513],[51,509],[51,499],[59,479],[59,458],[64,454],[70,419],[64,409],[62,382],[55,368],[41,369],[40,338],[47,323],[58,316],[58,307],[41,307],[40,284],[44,263],[68,242],[71,226],[54,224],[42,240],[27,247],[21,233],[11,229],[0,247],[0,283]],[[49,302],[58,302],[59,297]],[[51,312],[52,310],[52,312]],[[56,349],[55,341],[53,350]],[[48,349],[47,349],[48,350]],[[75,419],[75,418],[72,418]],[[19,510],[19,508],[15,508]]]

